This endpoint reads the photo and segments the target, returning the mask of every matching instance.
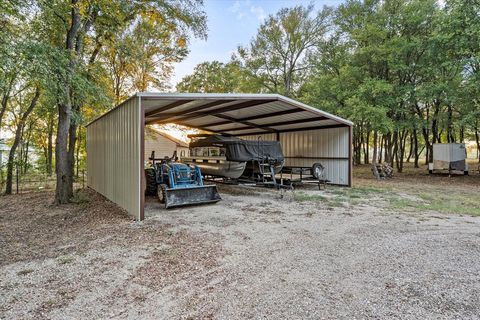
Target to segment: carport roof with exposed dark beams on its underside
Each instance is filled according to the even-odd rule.
[[[142,92],[135,97],[144,108],[146,124],[176,123],[236,136],[352,126],[278,94]]]

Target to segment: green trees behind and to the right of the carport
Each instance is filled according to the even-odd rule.
[[[479,12],[478,2],[461,0],[282,9],[232,59],[241,67],[236,83],[352,120],[356,163],[387,161],[402,171],[421,154],[431,161],[433,143],[473,138],[480,149]],[[209,73],[210,88],[221,90],[224,70]],[[181,84],[198,90],[206,78],[195,72]]]

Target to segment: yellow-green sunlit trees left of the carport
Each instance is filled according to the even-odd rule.
[[[166,89],[191,37],[206,37],[202,2],[192,0],[4,1],[0,19],[0,128],[25,115],[13,110],[30,105],[17,101],[17,91],[39,87],[27,117],[35,125],[10,131],[18,131],[20,145],[31,140],[44,149],[47,171],[55,165],[58,203],[73,194],[85,152],[82,125],[135,91]],[[44,139],[31,134],[38,128]]]

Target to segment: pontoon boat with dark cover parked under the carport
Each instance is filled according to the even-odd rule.
[[[190,135],[190,156],[182,162],[197,165],[202,173],[228,179],[258,180],[282,170],[284,156],[280,142],[243,140],[226,135]]]

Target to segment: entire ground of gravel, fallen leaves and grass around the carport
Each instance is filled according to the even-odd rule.
[[[92,191],[0,197],[0,319],[478,319],[480,176],[220,186],[134,222]]]

